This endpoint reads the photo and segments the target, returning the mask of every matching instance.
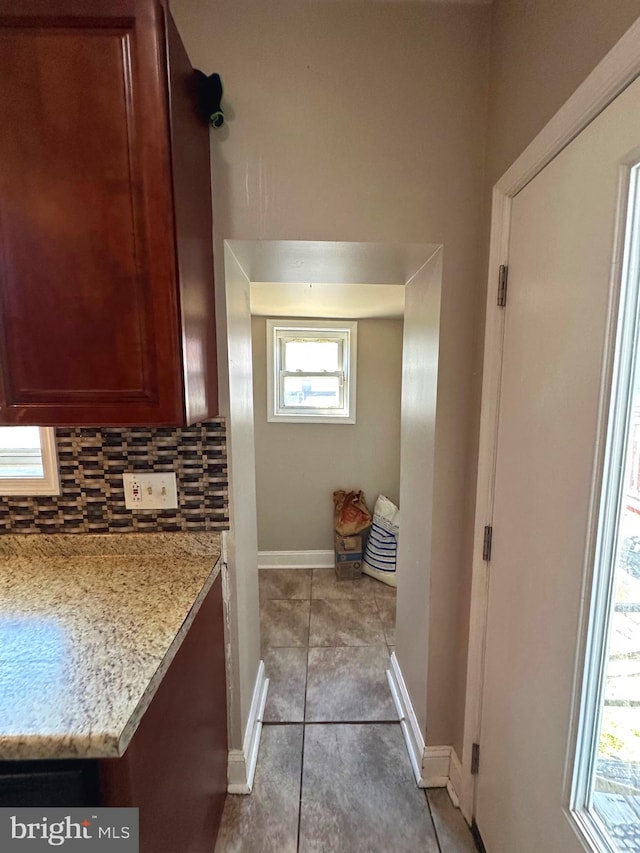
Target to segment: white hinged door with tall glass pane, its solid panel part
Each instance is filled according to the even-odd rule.
[[[572,853],[566,766],[632,84],[514,199],[480,772],[489,853]]]

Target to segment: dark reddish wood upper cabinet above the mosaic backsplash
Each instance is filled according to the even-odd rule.
[[[160,0],[0,0],[0,423],[217,414],[193,86]]]

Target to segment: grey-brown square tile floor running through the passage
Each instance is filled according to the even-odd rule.
[[[447,792],[416,787],[387,683],[395,590],[333,569],[260,572],[270,679],[253,792],[216,853],[472,853]]]

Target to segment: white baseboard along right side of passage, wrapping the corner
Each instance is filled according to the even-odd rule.
[[[459,807],[462,766],[452,746],[426,746],[395,652],[390,657],[387,678],[400,717],[407,752],[420,788],[446,788],[451,802]]]

